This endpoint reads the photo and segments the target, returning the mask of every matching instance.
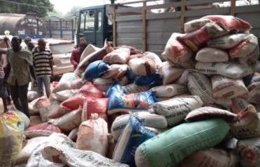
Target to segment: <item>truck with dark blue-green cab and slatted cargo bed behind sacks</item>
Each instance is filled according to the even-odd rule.
[[[113,42],[114,47],[129,45],[160,55],[173,32],[185,33],[185,22],[205,15],[239,17],[252,24],[250,33],[260,37],[259,3],[239,6],[236,0],[232,0],[230,6],[217,6],[222,3],[226,1],[146,0],[82,8],[76,38],[78,41],[84,37],[96,47],[103,47],[107,39]]]

